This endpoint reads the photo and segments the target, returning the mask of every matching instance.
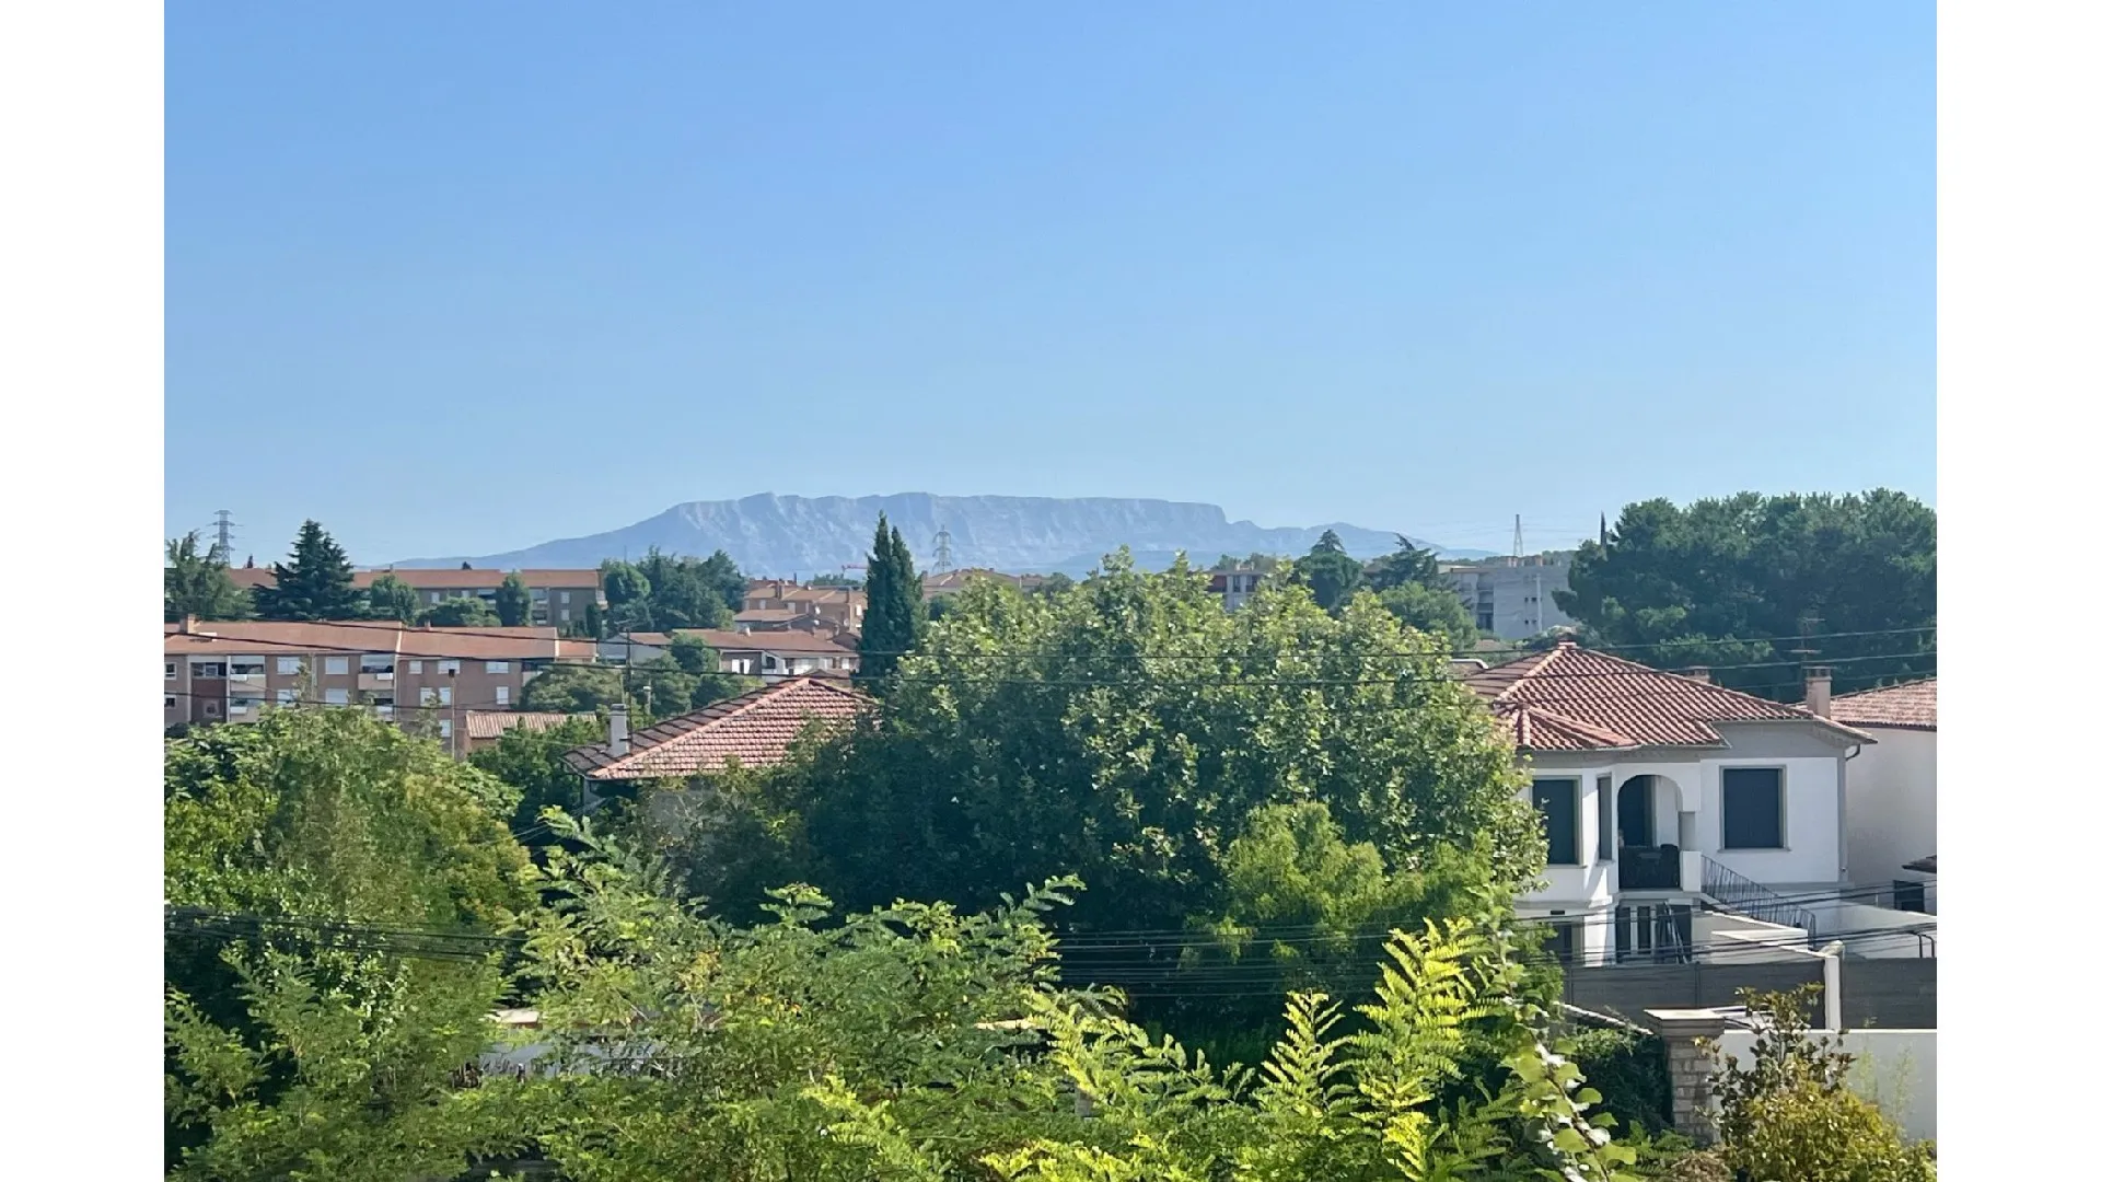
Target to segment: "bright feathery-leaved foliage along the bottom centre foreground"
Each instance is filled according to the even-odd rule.
[[[1496,925],[1395,934],[1361,1007],[1292,997],[1252,1075],[1059,984],[1044,917],[1074,883],[843,919],[788,888],[733,928],[588,827],[565,837],[582,854],[548,854],[565,898],[525,976],[548,1060],[590,1071],[485,1083],[563,1178],[1605,1182],[1630,1159],[1544,1012],[1513,999]],[[1496,1081],[1464,1077],[1471,1047]]]

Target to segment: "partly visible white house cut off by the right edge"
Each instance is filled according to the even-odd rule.
[[[1935,784],[1939,681],[1925,677],[1830,700],[1830,717],[1874,736],[1847,768],[1847,860],[1876,902],[1937,913]]]

